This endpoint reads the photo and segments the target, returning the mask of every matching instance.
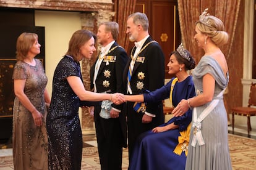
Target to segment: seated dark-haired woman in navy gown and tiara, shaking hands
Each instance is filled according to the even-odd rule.
[[[169,98],[176,107],[182,99],[194,97],[194,83],[187,70],[195,67],[195,61],[182,44],[171,53],[168,67],[168,73],[176,76],[169,83],[147,94],[125,95],[126,100],[147,103]],[[185,169],[191,119],[192,110],[188,110],[183,116],[171,118],[167,123],[141,134],[129,169]]]

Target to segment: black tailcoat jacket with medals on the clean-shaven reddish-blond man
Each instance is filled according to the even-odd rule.
[[[117,47],[116,47],[117,46]],[[113,49],[116,47],[115,49]],[[113,51],[111,51],[113,49]],[[124,71],[124,67],[126,66],[128,57],[126,51],[121,47],[118,46],[117,42],[110,47],[108,54],[105,55],[105,58],[101,62],[98,75],[96,76],[95,83],[96,83],[96,90],[97,92],[120,92],[124,94],[124,82],[122,81],[122,75]],[[93,89],[93,76],[95,73],[95,65],[92,66],[90,70],[90,79],[91,79],[91,89]],[[123,104],[115,105],[112,104],[113,108],[122,110]],[[124,115],[123,111],[119,113],[119,122],[121,125],[122,133],[124,136],[124,145],[126,145],[126,116]]]

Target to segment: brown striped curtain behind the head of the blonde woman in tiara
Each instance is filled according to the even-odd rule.
[[[233,45],[234,33],[236,31],[237,16],[241,0],[178,0],[179,22],[181,24],[181,36],[184,46],[191,52],[198,61],[203,55],[202,49],[197,47],[194,41],[195,22],[205,8],[208,13],[220,18],[229,34],[228,44],[221,47],[226,59],[229,59]]]

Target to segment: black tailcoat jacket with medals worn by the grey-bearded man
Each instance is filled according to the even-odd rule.
[[[142,48],[153,41],[150,37],[145,41]],[[133,51],[135,52],[135,48]],[[124,86],[127,88],[127,73],[129,71],[131,58],[124,68]],[[132,94],[142,94],[145,90],[154,91],[164,85],[164,54],[157,42],[148,44],[148,46],[140,52],[134,64],[132,77],[130,79],[130,87]],[[127,92],[127,89],[126,89]],[[162,102],[147,103],[146,111],[151,114],[163,115]]]

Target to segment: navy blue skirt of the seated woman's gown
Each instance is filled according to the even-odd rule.
[[[135,144],[129,169],[185,169],[185,153],[182,152],[181,156],[173,153],[179,136],[181,134],[178,129],[160,133],[144,132]]]

